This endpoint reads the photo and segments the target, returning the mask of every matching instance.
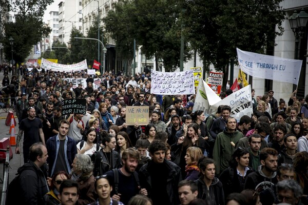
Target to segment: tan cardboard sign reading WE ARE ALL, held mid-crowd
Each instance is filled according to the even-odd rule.
[[[147,125],[149,124],[148,106],[126,106],[126,125]]]

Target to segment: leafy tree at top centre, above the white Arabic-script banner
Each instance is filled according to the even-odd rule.
[[[180,65],[180,11],[175,0],[124,1],[108,12],[104,22],[107,32],[115,39],[117,51],[130,62],[133,39],[136,39],[147,58],[162,59],[166,71],[174,71]],[[186,49],[185,59],[190,58],[189,50]]]

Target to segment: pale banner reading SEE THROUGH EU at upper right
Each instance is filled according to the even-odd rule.
[[[236,50],[239,65],[248,75],[298,85],[302,60]]]

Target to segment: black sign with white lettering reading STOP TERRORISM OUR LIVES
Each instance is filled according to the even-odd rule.
[[[62,114],[86,114],[86,99],[65,99],[62,101]]]

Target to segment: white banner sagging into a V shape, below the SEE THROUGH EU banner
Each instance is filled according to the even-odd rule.
[[[203,88],[200,84],[203,84]],[[203,110],[207,117],[211,114],[215,114],[220,105],[226,105],[231,107],[230,116],[240,120],[243,115],[251,116],[253,114],[251,101],[252,93],[250,85],[220,99],[204,81],[200,81],[192,112]]]

